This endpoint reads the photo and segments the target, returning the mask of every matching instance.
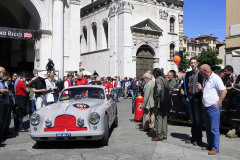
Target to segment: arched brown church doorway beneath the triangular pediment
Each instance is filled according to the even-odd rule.
[[[147,70],[153,69],[154,51],[148,45],[142,45],[137,50],[136,76],[141,78]]]

